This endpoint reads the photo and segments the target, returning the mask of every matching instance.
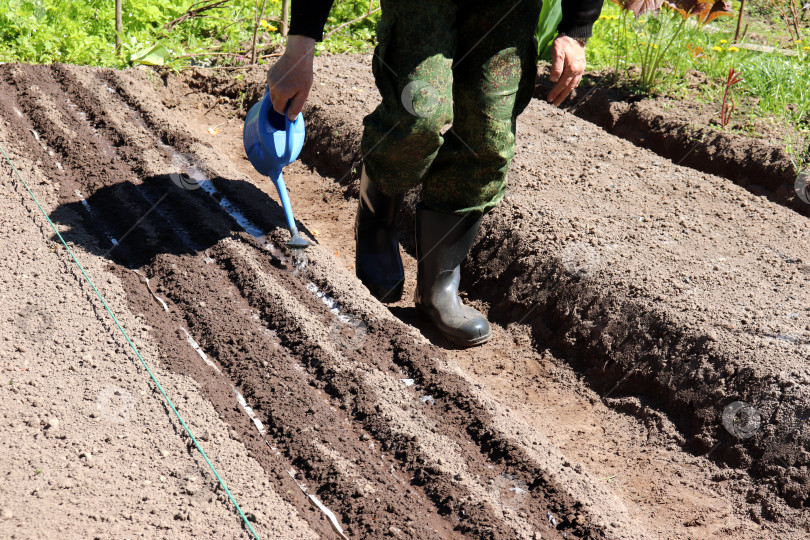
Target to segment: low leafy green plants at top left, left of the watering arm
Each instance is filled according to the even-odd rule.
[[[0,8],[0,61],[68,62],[111,67],[148,63],[181,68],[190,63],[232,64],[250,49],[257,0],[127,0],[122,50],[115,48],[114,2],[109,0],[5,0]],[[268,0],[266,18],[280,16]],[[281,37],[262,26],[258,47]],[[161,48],[162,47],[162,48]]]

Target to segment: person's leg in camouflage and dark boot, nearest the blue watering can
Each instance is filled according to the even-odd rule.
[[[382,103],[363,124],[363,172],[355,222],[357,277],[383,302],[402,296],[396,218],[452,120],[452,0],[383,0],[372,68]]]

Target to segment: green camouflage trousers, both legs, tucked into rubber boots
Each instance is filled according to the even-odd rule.
[[[433,210],[484,214],[503,199],[515,121],[534,92],[540,0],[381,5],[366,173],[388,195],[421,184]]]

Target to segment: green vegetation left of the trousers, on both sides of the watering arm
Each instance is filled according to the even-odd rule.
[[[210,3],[206,0],[204,3]],[[183,15],[194,2],[125,0],[123,47],[115,48],[115,11],[111,0],[5,0],[0,9],[0,62],[47,64],[66,62],[128,67],[157,44],[166,52],[159,59],[171,68],[189,65],[239,65],[248,61],[256,13],[262,0],[228,0],[170,29],[167,23]],[[368,12],[368,1],[339,0],[327,31]],[[379,12],[336,32],[319,51],[366,51],[374,45]],[[259,27],[257,49],[269,54],[281,48],[281,1],[267,0]],[[260,59],[260,63],[267,58]]]

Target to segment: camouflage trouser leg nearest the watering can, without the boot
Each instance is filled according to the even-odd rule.
[[[420,184],[453,120],[453,0],[382,0],[372,71],[382,103],[363,120],[371,181],[396,195]]]

